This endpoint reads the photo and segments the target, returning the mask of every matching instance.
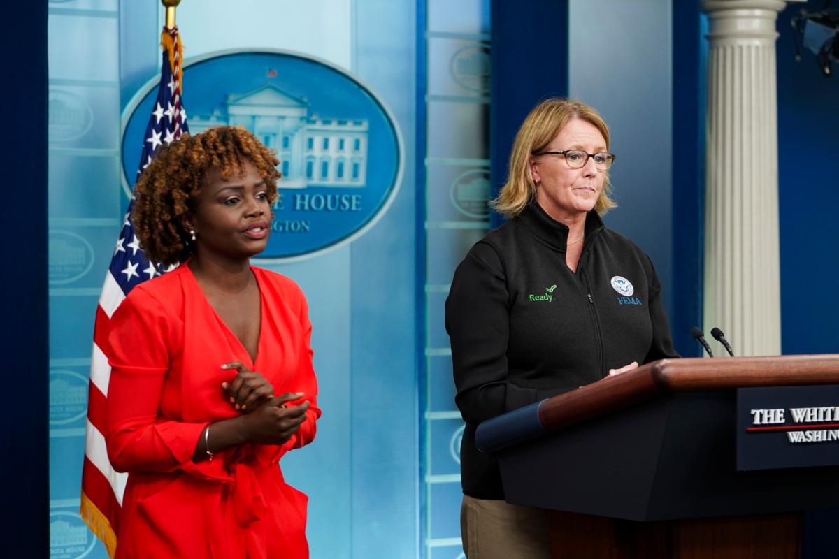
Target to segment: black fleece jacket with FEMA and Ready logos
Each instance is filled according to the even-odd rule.
[[[475,446],[478,423],[633,361],[678,357],[649,256],[593,211],[576,273],[565,265],[567,240],[568,227],[530,204],[455,272],[446,330],[466,422],[461,483],[472,497],[504,498],[498,463]]]

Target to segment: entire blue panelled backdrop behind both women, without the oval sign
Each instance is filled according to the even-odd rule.
[[[677,348],[696,352],[683,334],[701,321],[706,42],[699,0],[182,4],[187,60],[242,48],[326,60],[383,101],[404,142],[398,194],[371,229],[313,258],[267,264],[299,282],[312,303],[324,417],[315,444],[291,453],[284,468],[311,496],[313,557],[461,554],[462,423],[442,305],[456,263],[489,226],[484,204],[506,173],[505,146],[537,98],[579,96],[612,126],[625,164],[613,173],[621,207],[608,224],[653,256]],[[17,131],[4,140],[13,157],[3,168],[8,184],[27,185],[28,197],[49,195],[40,209],[3,210],[7,239],[33,220],[48,225],[27,234],[22,272],[3,279],[14,294],[3,313],[14,349],[7,354],[29,356],[27,388],[43,400],[10,403],[10,417],[21,422],[3,437],[3,450],[29,462],[4,467],[16,485],[9,504],[21,513],[3,523],[13,531],[4,550],[27,556],[36,542],[49,542],[54,557],[103,557],[76,515],[93,312],[127,205],[121,153],[139,153],[121,152],[122,111],[159,69],[163,11],[132,0],[50,0],[16,10],[20,24],[4,34],[6,50],[33,46],[14,74],[20,86],[3,94]],[[794,12],[781,13],[777,26],[782,342],[785,354],[836,352],[839,180],[829,154],[839,139],[839,84],[821,76],[811,53],[795,62]],[[539,72],[534,79],[524,73],[530,66]],[[190,112],[204,111],[190,107],[200,87],[185,82]],[[633,155],[649,147],[661,158],[653,174]],[[19,327],[22,316],[31,328]],[[49,510],[40,444],[47,422]],[[809,526],[814,533],[816,521]]]

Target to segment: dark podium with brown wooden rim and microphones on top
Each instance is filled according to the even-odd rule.
[[[531,406],[542,436],[495,452],[507,500],[555,511],[562,559],[798,557],[839,467],[737,471],[736,393],[819,385],[839,385],[839,355],[660,360],[555,396]]]

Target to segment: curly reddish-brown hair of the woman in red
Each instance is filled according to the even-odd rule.
[[[140,174],[134,186],[134,230],[150,261],[170,266],[186,261],[194,250],[187,240],[185,223],[195,213],[198,193],[209,168],[222,179],[244,173],[249,161],[265,180],[268,201],[277,199],[279,159],[275,150],[242,127],[210,128],[201,134],[185,134],[169,146]]]

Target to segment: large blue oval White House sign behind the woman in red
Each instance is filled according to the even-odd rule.
[[[241,126],[277,152],[283,179],[260,261],[310,258],[343,246],[388,210],[402,182],[401,133],[384,102],[356,76],[299,53],[237,49],[186,60],[184,81],[191,134]],[[147,140],[158,85],[154,76],[123,111],[127,197],[139,166],[134,147]],[[469,199],[468,185],[458,194]]]

